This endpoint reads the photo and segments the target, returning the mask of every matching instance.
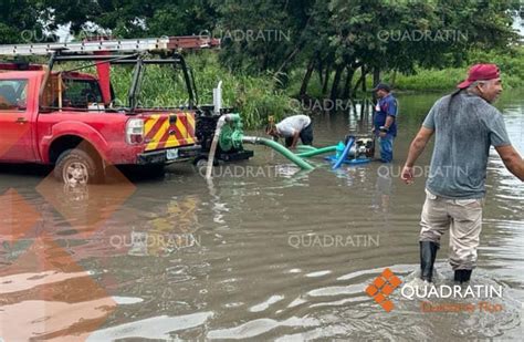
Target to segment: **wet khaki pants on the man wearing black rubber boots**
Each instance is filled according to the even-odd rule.
[[[450,231],[450,265],[453,270],[472,270],[476,266],[476,248],[482,230],[484,199],[449,199],[426,189],[420,220],[420,241],[439,243]]]

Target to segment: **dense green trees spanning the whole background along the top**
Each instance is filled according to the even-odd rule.
[[[64,25],[76,39],[212,34],[222,49],[211,58],[218,65],[206,64],[209,55],[200,60],[208,77],[200,81],[208,91],[218,75],[228,79],[237,85],[226,83],[227,95],[245,108],[250,96],[281,104],[283,92],[350,99],[379,79],[407,89],[440,82],[427,77],[447,84],[455,80],[439,70],[455,76],[480,61],[496,61],[513,81],[524,80],[511,27],[522,11],[518,0],[4,0],[0,42],[53,41],[44,32]]]

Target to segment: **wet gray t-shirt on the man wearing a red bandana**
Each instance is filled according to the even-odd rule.
[[[447,198],[483,198],[490,146],[511,145],[502,114],[461,91],[438,100],[422,125],[436,131],[428,190]]]

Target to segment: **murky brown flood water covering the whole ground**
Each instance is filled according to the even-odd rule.
[[[303,173],[256,146],[211,183],[176,165],[164,179],[78,193],[45,172],[2,170],[0,341],[522,339],[524,186],[494,151],[472,284],[501,287],[486,299],[500,310],[422,312],[395,291],[386,312],[365,292],[386,268],[416,278],[425,178],[407,186],[398,174],[439,96],[399,96],[389,168],[333,172],[316,157]],[[524,93],[497,107],[524,154]],[[348,114],[315,116],[315,145],[361,128]],[[448,236],[437,282],[452,286]]]

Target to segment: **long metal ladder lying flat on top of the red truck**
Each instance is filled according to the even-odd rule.
[[[206,35],[161,37],[145,39],[98,40],[72,43],[36,43],[0,45],[0,55],[50,55],[53,53],[96,52],[163,52],[177,50],[198,50],[220,46],[220,40]]]

